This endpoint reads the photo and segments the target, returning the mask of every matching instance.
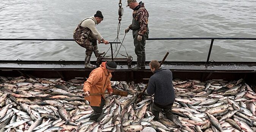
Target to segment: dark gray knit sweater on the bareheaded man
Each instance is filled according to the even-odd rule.
[[[149,79],[147,94],[153,95],[156,104],[165,106],[175,101],[175,93],[172,85],[172,72],[162,68],[154,71]]]

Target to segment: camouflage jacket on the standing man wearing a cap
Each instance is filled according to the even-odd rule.
[[[147,32],[149,12],[144,6],[138,5],[133,11],[133,18],[139,22],[139,35],[144,35]],[[133,29],[132,25],[130,25],[129,28]]]

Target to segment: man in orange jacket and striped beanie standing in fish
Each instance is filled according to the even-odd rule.
[[[103,95],[92,95],[90,93],[103,93],[106,91],[109,92],[109,95],[113,93],[113,89],[111,88],[111,72],[114,72],[117,68],[117,64],[115,61],[107,61],[101,63],[99,68],[94,69],[89,78],[84,82],[84,92],[85,100],[90,102],[90,106],[93,109],[93,114],[90,117],[90,120],[97,121],[100,117],[103,106],[105,105],[105,98]]]

